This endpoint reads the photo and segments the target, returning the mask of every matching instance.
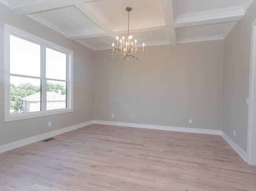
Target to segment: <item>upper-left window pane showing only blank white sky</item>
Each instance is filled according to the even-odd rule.
[[[40,77],[41,46],[10,35],[10,73]]]

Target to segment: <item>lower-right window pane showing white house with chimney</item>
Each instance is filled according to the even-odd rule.
[[[66,82],[47,80],[47,110],[66,108],[66,87]]]

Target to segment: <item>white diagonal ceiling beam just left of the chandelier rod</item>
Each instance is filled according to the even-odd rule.
[[[113,32],[111,27],[107,25],[103,20],[101,20],[96,13],[94,13],[91,9],[89,9],[84,3],[77,3],[74,6],[84,13],[89,19],[91,19],[98,27],[100,27],[103,31],[108,33],[108,36],[116,39],[116,33]]]

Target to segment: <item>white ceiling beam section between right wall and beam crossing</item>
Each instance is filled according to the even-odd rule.
[[[244,15],[245,11],[242,6],[182,14],[177,16],[174,27],[192,27],[221,22],[233,22],[241,20]]]

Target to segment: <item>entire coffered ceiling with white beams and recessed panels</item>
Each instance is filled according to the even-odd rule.
[[[138,46],[224,39],[254,0],[0,0],[93,50],[130,33]]]

